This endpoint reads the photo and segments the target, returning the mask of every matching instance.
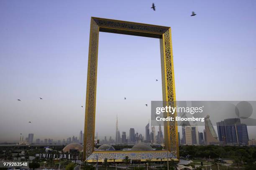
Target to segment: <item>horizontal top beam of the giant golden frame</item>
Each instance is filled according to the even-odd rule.
[[[95,18],[92,20],[98,25],[99,31],[117,34],[136,35],[143,37],[161,38],[170,27],[150,25],[143,23],[133,23],[120,20],[109,20],[105,18]]]

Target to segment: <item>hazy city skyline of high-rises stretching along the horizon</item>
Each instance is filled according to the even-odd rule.
[[[137,143],[149,143],[149,144],[163,144],[164,135],[161,130],[161,125],[159,125],[159,130],[155,132],[155,126],[151,126],[151,131],[149,130],[149,122],[147,123],[145,129],[145,136],[138,133],[134,128],[130,128],[129,133],[126,135],[126,131],[118,130],[118,117],[116,120],[116,136],[115,140],[112,136],[104,136],[99,138],[98,132],[96,132],[95,140],[98,140],[100,145],[103,144],[127,144],[135,145]],[[136,133],[135,133],[136,132]],[[179,145],[253,145],[255,139],[248,138],[247,125],[241,123],[239,118],[230,118],[224,119],[220,122],[217,122],[217,132],[212,125],[210,116],[206,117],[205,120],[205,129],[203,132],[198,130],[197,125],[191,126],[189,122],[184,122],[182,124],[182,138],[180,138],[180,132],[178,132]],[[28,137],[25,137],[23,140],[23,134],[20,134],[19,144],[70,144],[70,143],[81,143],[83,144],[84,133],[82,130],[79,132],[79,137],[72,136],[67,138],[67,140],[54,140],[50,138],[40,139],[34,138],[34,134],[28,134]],[[108,138],[108,139],[107,139]]]

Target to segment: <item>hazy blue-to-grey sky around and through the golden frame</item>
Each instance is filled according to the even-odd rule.
[[[177,100],[256,100],[255,0],[151,3],[0,0],[0,141],[83,130],[92,16],[172,27]],[[101,32],[98,54],[96,131],[114,138],[118,115],[144,135],[144,104],[162,99],[159,40]]]

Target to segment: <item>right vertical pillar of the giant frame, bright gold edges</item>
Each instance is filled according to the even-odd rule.
[[[172,37],[171,28],[164,32],[163,37],[160,38],[160,52],[161,52],[161,72],[162,72],[162,90],[163,101],[166,105],[175,107],[175,86],[174,86],[174,67],[172,55]],[[164,115],[174,117],[174,115]],[[165,146],[172,155],[179,158],[179,141],[178,141],[178,127],[176,121],[164,122],[164,141]]]

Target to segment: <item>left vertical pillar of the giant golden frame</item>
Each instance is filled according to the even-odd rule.
[[[99,27],[91,19],[84,120],[84,160],[94,149],[98,41]]]

